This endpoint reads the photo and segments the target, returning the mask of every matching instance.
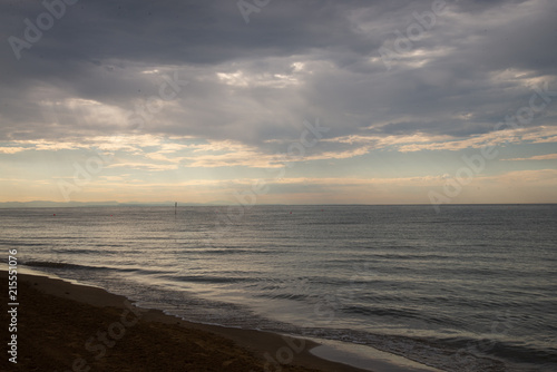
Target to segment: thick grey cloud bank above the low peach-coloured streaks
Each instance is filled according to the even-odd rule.
[[[379,48],[392,48],[395,31],[404,33],[413,12],[431,3],[271,1],[246,25],[236,1],[81,0],[18,60],[8,37],[23,38],[23,19],[35,22],[46,10],[3,1],[0,138],[127,130],[65,99],[134,111],[158,90],[160,77],[145,74],[153,69],[179,71],[189,84],[144,131],[265,148],[265,140],[294,140],[314,117],[332,128],[329,137],[482,134],[527,102],[528,81],[555,81],[557,6],[543,0],[447,1],[434,27],[388,70]],[[512,69],[520,78],[504,74]]]

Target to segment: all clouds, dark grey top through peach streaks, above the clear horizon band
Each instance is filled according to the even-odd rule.
[[[329,130],[296,172],[319,177],[323,161],[368,179],[362,159],[486,145],[555,160],[541,147],[557,141],[549,0],[271,1],[248,23],[236,1],[69,3],[0,2],[7,172],[38,151],[65,154],[63,168],[102,150],[106,169],[260,177],[234,169],[276,167],[315,119]],[[424,161],[421,176],[447,172]]]

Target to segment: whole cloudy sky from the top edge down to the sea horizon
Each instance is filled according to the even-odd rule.
[[[557,2],[0,0],[0,202],[557,203]]]

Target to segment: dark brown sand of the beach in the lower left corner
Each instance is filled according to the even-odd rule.
[[[7,272],[0,281],[8,304]],[[362,371],[312,355],[307,340],[185,322],[46,276],[19,274],[18,302],[18,363],[4,351],[0,371]],[[4,345],[9,324],[4,311]]]

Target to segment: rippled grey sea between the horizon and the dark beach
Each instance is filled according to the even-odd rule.
[[[557,371],[557,205],[28,208],[0,226],[20,264],[190,321]]]

